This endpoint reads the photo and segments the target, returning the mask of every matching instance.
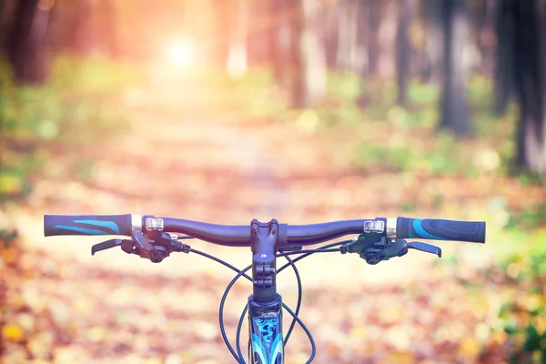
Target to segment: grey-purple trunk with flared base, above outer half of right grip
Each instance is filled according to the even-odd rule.
[[[468,39],[464,0],[442,2],[443,17],[443,93],[441,96],[440,127],[459,136],[470,134],[469,109],[464,86],[467,72],[462,60]]]

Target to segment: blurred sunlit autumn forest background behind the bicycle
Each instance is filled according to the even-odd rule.
[[[0,361],[233,362],[233,272],[43,237],[134,213],[485,220],[440,259],[301,261],[315,362],[546,362],[545,27],[543,0],[0,1]]]

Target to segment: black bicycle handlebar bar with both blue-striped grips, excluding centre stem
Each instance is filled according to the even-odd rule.
[[[134,217],[137,217],[136,223]],[[45,237],[56,235],[123,235],[130,237],[134,227],[145,229],[143,219],[138,218],[140,217],[130,214],[45,215],[44,232]],[[250,246],[249,225],[217,225],[172,217],[163,217],[162,220],[164,231],[187,234],[220,245]],[[311,225],[278,224],[278,242],[281,246],[305,246],[350,234],[362,234],[365,221],[369,220],[343,220]],[[485,222],[398,217],[396,238],[484,243]]]

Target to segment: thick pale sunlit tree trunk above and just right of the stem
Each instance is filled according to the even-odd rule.
[[[293,16],[292,104],[296,107],[315,106],[326,94],[326,51],[320,36],[319,0],[298,0],[300,11]]]

